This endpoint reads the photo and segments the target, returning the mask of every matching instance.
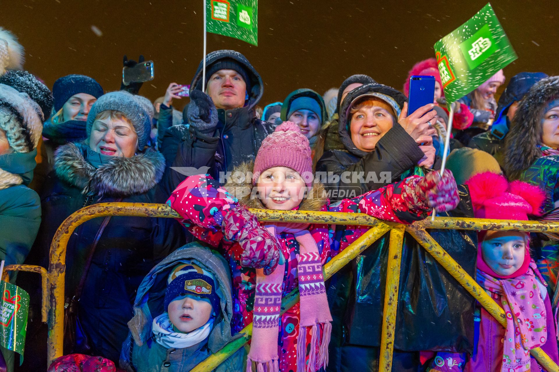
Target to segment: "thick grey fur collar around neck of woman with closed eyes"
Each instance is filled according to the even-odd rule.
[[[69,143],[56,150],[54,171],[60,180],[82,190],[84,195],[144,194],[163,177],[165,158],[157,151],[148,149],[131,158],[115,158],[95,169],[86,161],[79,145]]]

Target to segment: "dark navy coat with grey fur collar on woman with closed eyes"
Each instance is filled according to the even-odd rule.
[[[54,172],[42,190],[43,219],[28,261],[48,267],[50,242],[56,229],[83,206],[120,197],[128,203],[160,201],[156,192],[164,165],[161,154],[147,150],[95,169],[78,145],[60,146],[55,153]],[[103,218],[94,218],[80,225],[68,242],[67,296],[75,294],[102,222]],[[93,355],[119,361],[121,345],[128,334],[126,323],[134,316],[132,303],[141,280],[159,260],[183,244],[182,228],[173,219],[111,218],[97,244],[78,307],[84,331],[92,341]]]

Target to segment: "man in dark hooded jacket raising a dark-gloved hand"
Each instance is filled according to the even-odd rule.
[[[186,168],[209,168],[206,172],[219,179],[220,172],[254,160],[260,143],[273,131],[272,124],[254,114],[264,88],[244,55],[234,50],[208,54],[205,86],[206,94],[201,92],[200,62],[190,87],[187,123],[169,128],[162,140],[161,150],[173,166],[168,170],[170,191],[190,175]],[[168,107],[162,104],[164,110]]]

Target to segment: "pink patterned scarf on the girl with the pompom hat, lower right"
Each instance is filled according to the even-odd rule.
[[[527,272],[514,279],[497,279],[477,270],[477,282],[485,290],[500,296],[506,313],[502,372],[528,371],[530,350],[542,346],[547,340],[546,307],[534,272],[537,269],[533,260]]]

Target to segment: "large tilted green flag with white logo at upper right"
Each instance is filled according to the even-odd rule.
[[[434,46],[444,96],[450,104],[467,95],[518,56],[491,4]]]

